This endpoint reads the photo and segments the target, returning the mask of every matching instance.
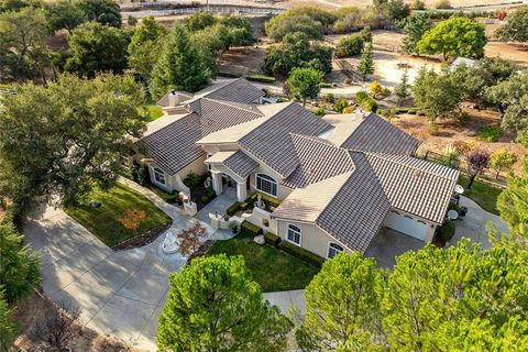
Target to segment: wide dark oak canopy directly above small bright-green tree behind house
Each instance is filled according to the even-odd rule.
[[[294,67],[310,67],[328,74],[332,69],[332,50],[310,43],[304,33],[287,34],[283,43],[267,50],[263,70],[286,76]]]

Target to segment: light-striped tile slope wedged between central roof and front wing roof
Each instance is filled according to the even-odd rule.
[[[292,133],[292,142],[297,152],[299,165],[283,180],[283,185],[287,187],[305,187],[354,169],[349,152],[326,140]]]

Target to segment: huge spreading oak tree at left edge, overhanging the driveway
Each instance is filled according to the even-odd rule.
[[[122,172],[130,139],[146,117],[133,77],[59,77],[48,88],[19,86],[0,105],[0,197],[20,215],[43,197],[70,202]]]

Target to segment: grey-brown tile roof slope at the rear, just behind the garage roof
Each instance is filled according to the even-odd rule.
[[[375,113],[366,116],[340,145],[348,150],[413,155],[420,141]]]

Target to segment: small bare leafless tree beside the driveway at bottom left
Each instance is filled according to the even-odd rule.
[[[79,331],[80,308],[69,299],[61,300],[57,309],[36,322],[35,336],[59,352],[69,352],[69,342]]]

